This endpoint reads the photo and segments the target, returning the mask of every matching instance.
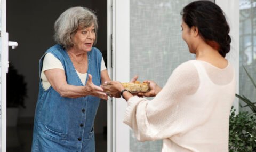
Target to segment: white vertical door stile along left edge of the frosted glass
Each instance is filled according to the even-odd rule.
[[[113,0],[113,79],[130,81],[130,1]],[[129,126],[123,123],[127,103],[113,101],[113,151],[129,152]]]

